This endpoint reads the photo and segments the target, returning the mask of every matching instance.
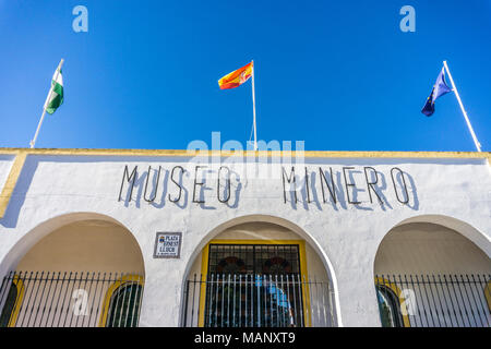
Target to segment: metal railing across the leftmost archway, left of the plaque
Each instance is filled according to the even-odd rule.
[[[0,327],[134,327],[143,281],[128,273],[11,272],[0,286]]]

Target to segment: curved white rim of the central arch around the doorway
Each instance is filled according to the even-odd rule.
[[[327,255],[325,254],[325,252],[323,251],[323,249],[321,248],[319,242],[310,233],[308,233],[304,229],[300,228],[298,225],[296,225],[285,218],[270,216],[270,215],[247,215],[247,216],[240,216],[240,217],[232,218],[232,219],[221,222],[218,226],[216,226],[215,228],[213,228],[208,233],[206,233],[206,236],[200,241],[200,243],[197,243],[197,245],[194,248],[194,250],[191,254],[191,257],[189,258],[189,261],[187,263],[183,278],[182,278],[181,311],[180,311],[181,318],[180,318],[179,323],[182,324],[182,317],[183,317],[183,313],[184,313],[183,305],[185,302],[185,300],[184,300],[185,282],[189,279],[191,268],[193,267],[193,265],[196,262],[196,258],[199,257],[201,252],[204,250],[205,246],[207,246],[207,244],[211,241],[213,241],[218,234],[226,231],[227,229],[230,229],[230,228],[243,225],[243,224],[254,224],[254,222],[273,224],[273,225],[286,228],[286,229],[290,230],[291,232],[294,232],[295,234],[297,234],[298,237],[302,238],[306,241],[306,243],[308,243],[309,246],[313,249],[313,251],[316,253],[316,255],[319,256],[319,258],[321,260],[321,262],[323,264],[325,274],[327,275],[327,278],[328,278],[327,281],[334,292],[334,294],[333,294],[334,296],[334,304],[332,304],[333,314],[334,314],[334,316],[333,316],[334,325],[343,326],[340,312],[339,312],[337,279],[336,279],[336,275],[334,273],[334,267],[333,267],[330,258],[327,257]],[[262,238],[258,237],[258,239],[261,240]]]

